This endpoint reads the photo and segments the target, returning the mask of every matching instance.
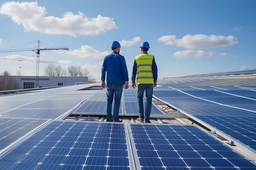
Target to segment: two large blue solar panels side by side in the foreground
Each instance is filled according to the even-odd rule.
[[[0,167],[244,170],[256,164],[193,125],[51,121],[0,157]]]

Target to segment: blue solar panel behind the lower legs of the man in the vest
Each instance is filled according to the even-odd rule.
[[[144,112],[145,112],[145,105],[144,104]],[[128,115],[128,114],[135,114],[135,115],[139,115],[139,108],[138,108],[138,104],[137,102],[124,102],[124,115]],[[160,110],[157,106],[155,106],[155,104],[152,104],[152,108],[151,108],[151,115],[152,114],[160,114],[163,115],[164,112],[162,112],[162,110]]]

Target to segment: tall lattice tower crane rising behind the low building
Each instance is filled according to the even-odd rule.
[[[40,41],[38,40],[37,49],[12,49],[12,50],[2,50],[0,53],[9,53],[9,52],[16,52],[16,51],[35,51],[36,53],[36,87],[39,87],[39,62],[40,62],[40,51],[42,50],[68,50],[67,46],[61,47],[49,47],[40,49]]]

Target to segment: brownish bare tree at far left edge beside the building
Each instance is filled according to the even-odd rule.
[[[0,78],[0,91],[10,91],[19,89],[19,84],[14,77],[11,77],[11,73],[4,71]]]

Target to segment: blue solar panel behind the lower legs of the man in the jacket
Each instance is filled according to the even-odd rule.
[[[114,110],[114,105],[115,102],[112,103],[112,113]],[[122,104],[120,104],[120,108],[119,108],[119,115],[122,113]],[[94,102],[94,101],[85,101],[83,102],[83,104],[81,104],[81,106],[79,106],[79,108],[77,108],[73,114],[82,114],[82,113],[86,113],[86,114],[103,114],[106,115],[106,111],[107,111],[107,102],[106,101],[102,101],[102,102]]]

